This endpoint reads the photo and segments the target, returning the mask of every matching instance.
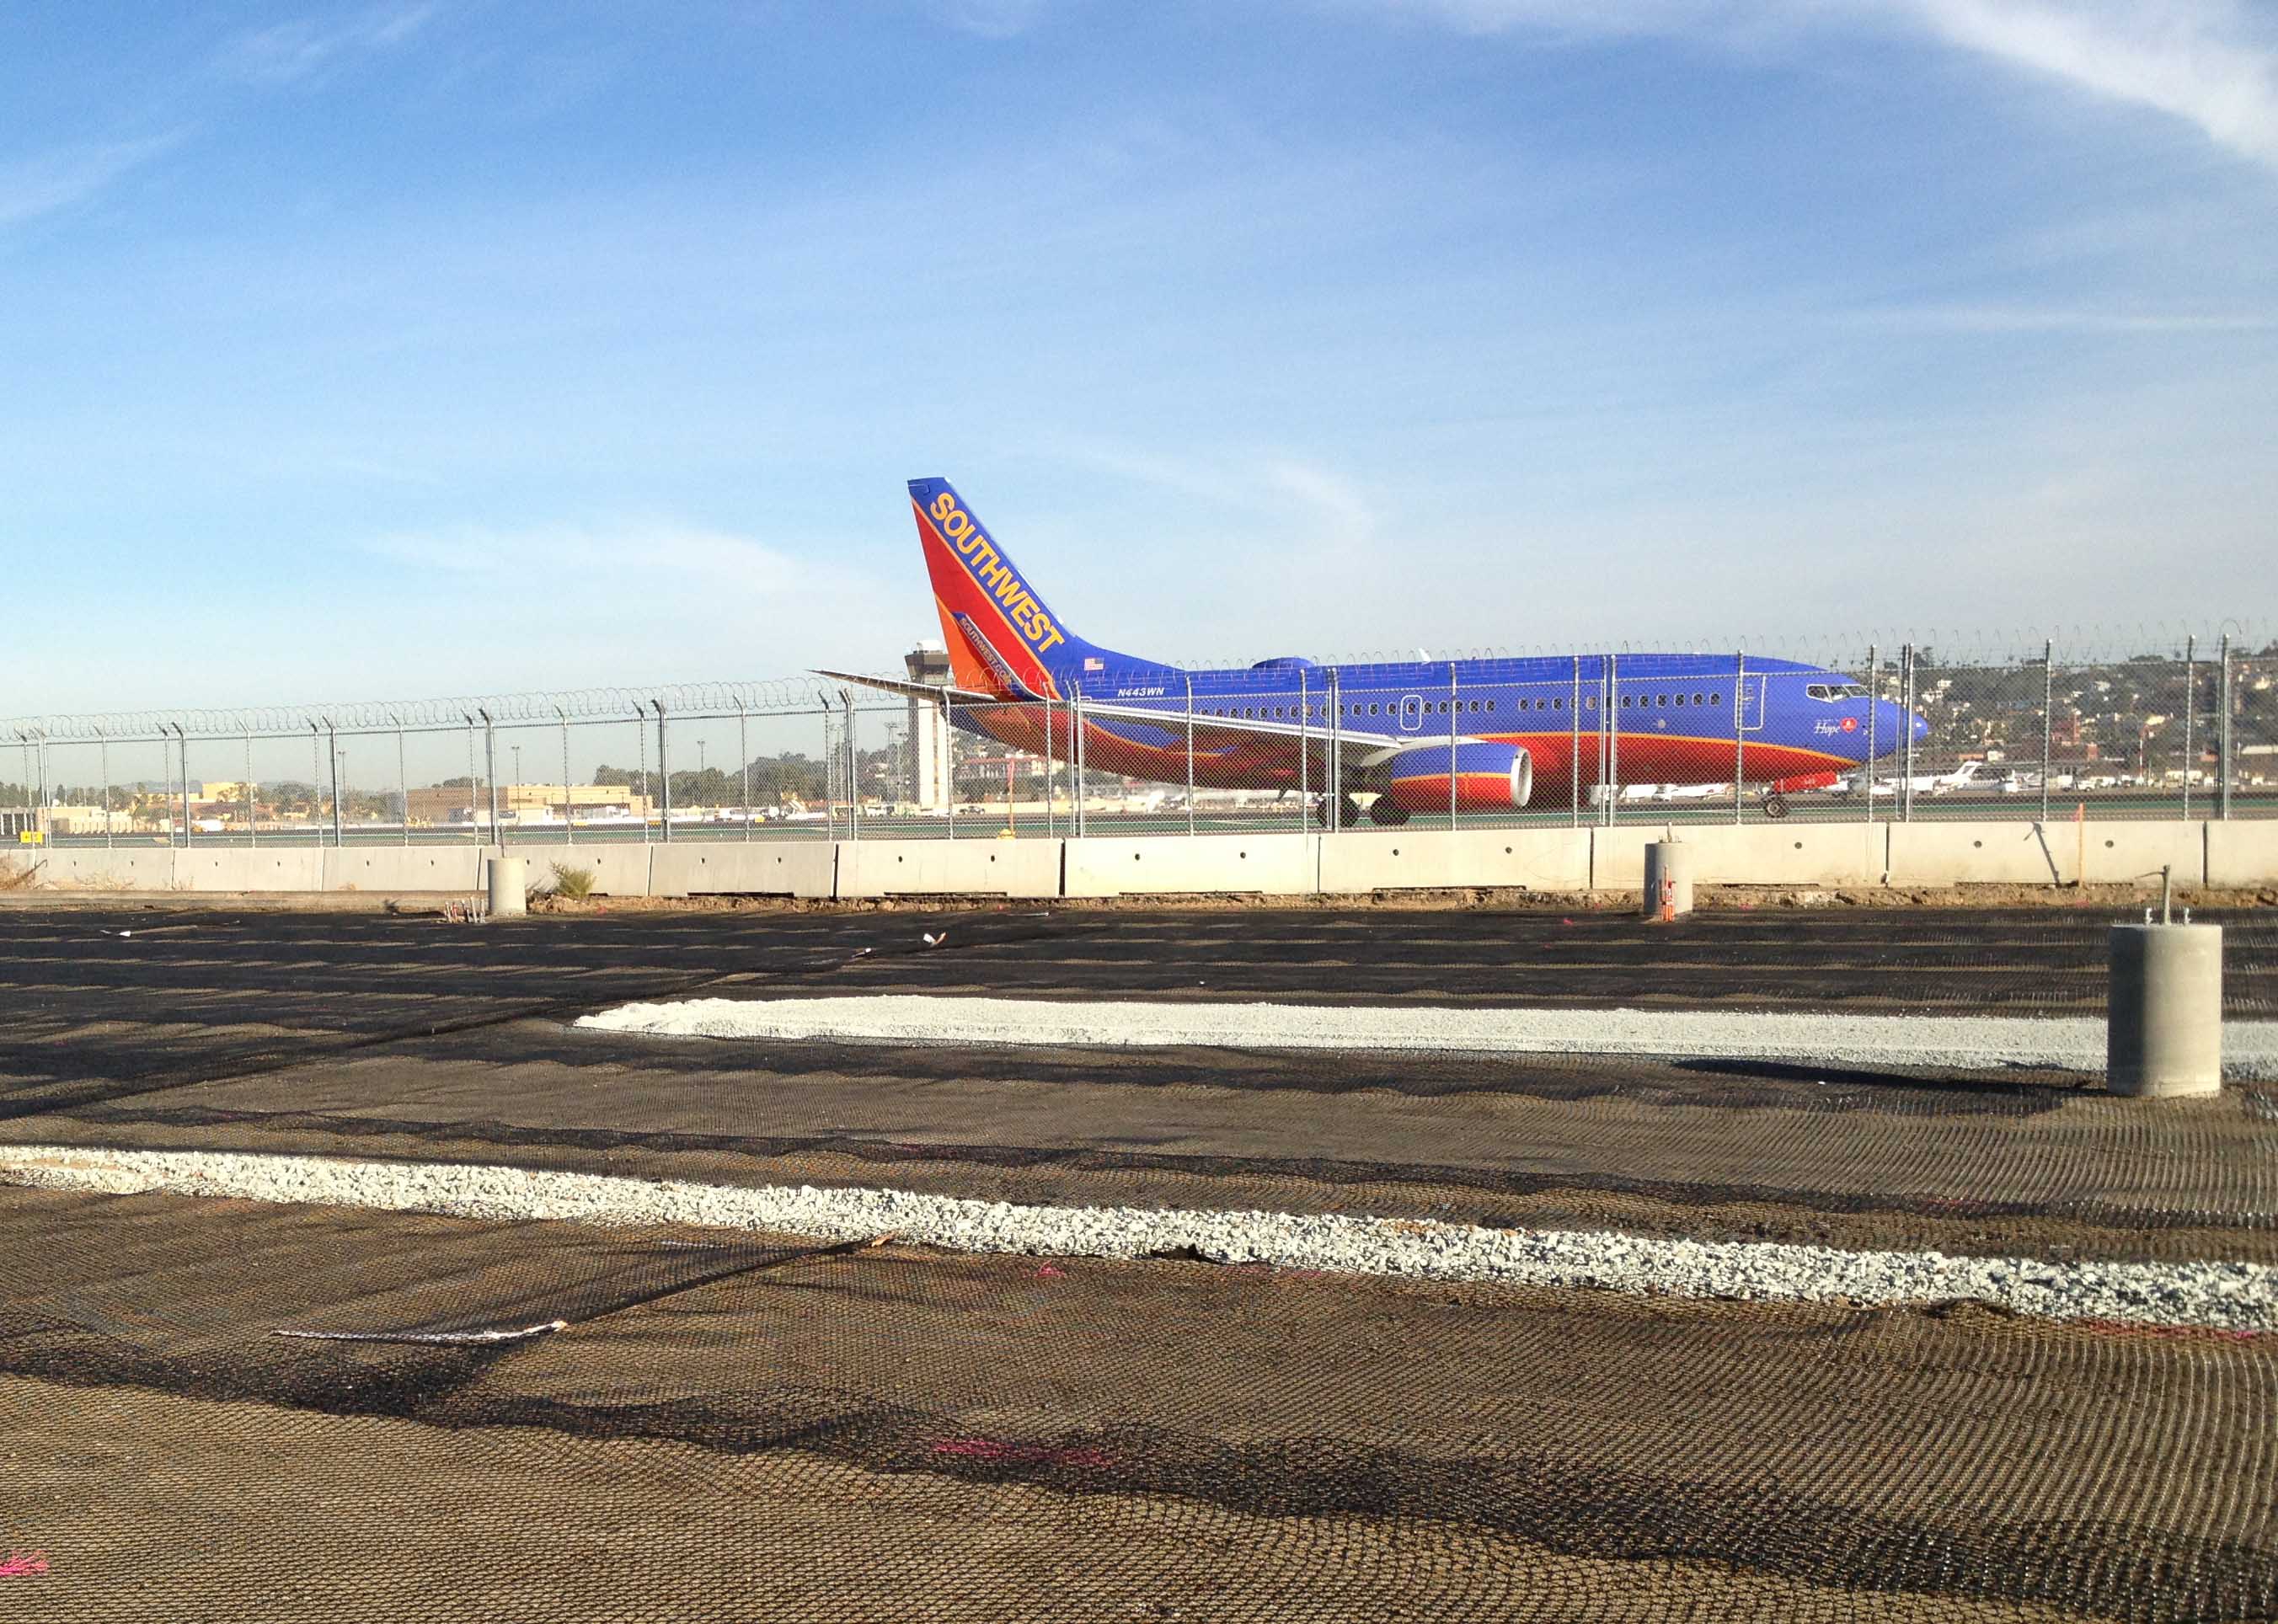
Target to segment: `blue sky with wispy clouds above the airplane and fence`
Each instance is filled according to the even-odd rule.
[[[0,27],[0,711],[2278,610],[2262,5]]]

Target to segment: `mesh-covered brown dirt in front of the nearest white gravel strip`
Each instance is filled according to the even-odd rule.
[[[11,1617],[2278,1608],[2269,1339],[166,1196],[0,1241]]]

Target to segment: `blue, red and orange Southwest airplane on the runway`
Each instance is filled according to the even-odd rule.
[[[948,640],[957,727],[1057,761],[1223,790],[1337,786],[1339,822],[1599,802],[1601,786],[1822,788],[1929,724],[1843,672],[1731,654],[1415,661],[1273,658],[1189,672],[1075,635],[948,481],[909,481]],[[1606,724],[1613,720],[1611,727]]]

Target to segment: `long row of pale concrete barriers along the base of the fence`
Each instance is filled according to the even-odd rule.
[[[656,845],[513,845],[531,884],[551,866],[585,868],[595,891],[661,895],[1367,895],[1447,886],[1633,891],[1661,825],[1465,829],[1458,834],[1339,829],[1082,840],[683,840]],[[2128,884],[2166,863],[2178,886],[2278,884],[2278,820],[1914,825],[1679,825],[1697,884],[1893,886],[2080,879]],[[46,847],[7,852],[39,863],[59,891],[478,891],[490,847]],[[2150,884],[2150,881],[2144,881]]]

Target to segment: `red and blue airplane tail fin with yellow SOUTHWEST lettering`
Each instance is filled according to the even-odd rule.
[[[1007,699],[1055,699],[1087,674],[1155,667],[1068,631],[950,481],[909,481],[909,506],[918,515],[918,547],[959,688]]]

